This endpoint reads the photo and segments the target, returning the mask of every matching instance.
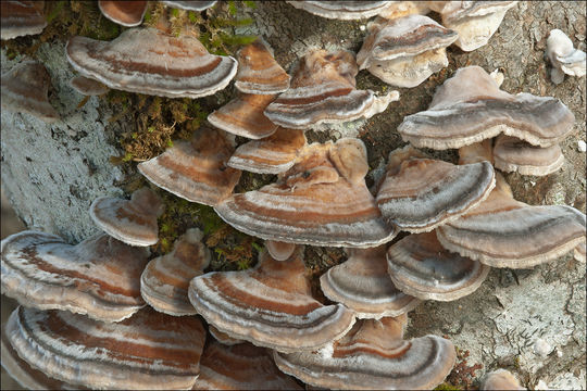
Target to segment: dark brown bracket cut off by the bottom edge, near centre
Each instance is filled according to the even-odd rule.
[[[302,390],[277,369],[271,351],[240,343],[209,343],[200,361],[200,376],[192,390]]]

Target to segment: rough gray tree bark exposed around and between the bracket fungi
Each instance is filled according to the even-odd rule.
[[[357,52],[366,35],[366,21],[324,20],[285,2],[258,3],[255,10],[240,12],[248,12],[255,23],[239,33],[262,35],[286,70],[311,48]],[[557,97],[576,118],[576,131],[561,146],[566,157],[563,169],[548,177],[507,175],[514,195],[529,204],[569,204],[585,213],[585,153],[577,148],[577,141],[586,139],[585,78],[567,76],[553,85],[544,55],[553,28],[565,31],[585,50],[585,13],[583,2],[520,2],[508,11],[489,45],[471,53],[451,48],[446,71],[416,88],[399,89],[400,102],[391,103],[386,112],[330,133],[310,133],[309,138],[359,133],[371,167],[380,173],[389,151],[403,144],[396,131],[402,117],[425,110],[436,86],[455,68],[465,64],[487,72],[501,67],[505,74],[502,89]],[[112,108],[97,98],[75,109],[83,97],[67,85],[73,72],[63,42],[42,45],[38,59],[51,74],[53,102],[62,121],[47,125],[27,114],[2,111],[2,186],[29,228],[77,242],[97,231],[87,212],[91,201],[122,193],[125,175],[108,157],[122,154],[115,135],[134,124],[124,118],[109,123]],[[9,61],[2,52],[2,72],[17,60]],[[360,73],[358,85],[378,91],[384,86],[365,72]],[[436,155],[454,159],[451,152]],[[551,388],[585,389],[585,265],[572,254],[530,270],[492,269],[482,288],[467,298],[420,305],[409,316],[409,336],[448,336],[459,349],[471,352],[470,364],[483,364],[477,376],[507,367],[530,389],[539,381]],[[538,339],[550,346],[546,356],[535,352]]]

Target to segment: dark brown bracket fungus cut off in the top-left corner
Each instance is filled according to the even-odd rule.
[[[0,1],[0,37],[13,39],[41,34],[47,26],[45,1]]]

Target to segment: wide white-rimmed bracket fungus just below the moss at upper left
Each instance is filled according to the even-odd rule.
[[[210,54],[195,37],[154,28],[130,28],[107,42],[70,38],[70,64],[110,88],[167,98],[201,98],[225,88],[236,75],[232,56]]]

